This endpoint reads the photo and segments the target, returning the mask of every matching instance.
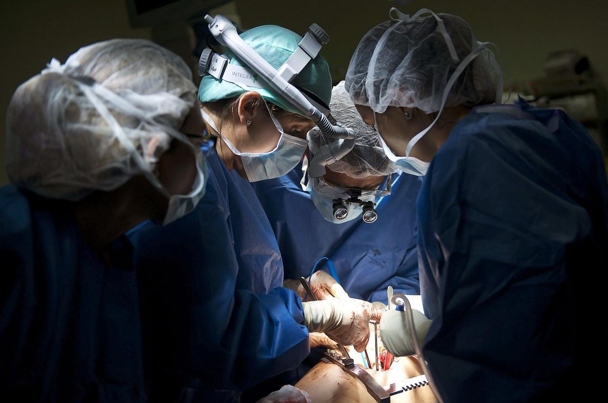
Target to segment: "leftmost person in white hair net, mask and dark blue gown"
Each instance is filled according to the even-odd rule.
[[[3,401],[147,401],[123,233],[193,209],[203,131],[188,67],[149,41],[83,47],[16,89],[0,189]]]

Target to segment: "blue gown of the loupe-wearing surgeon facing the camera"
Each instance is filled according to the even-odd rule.
[[[397,176],[397,177],[396,177]],[[328,257],[340,283],[353,298],[386,303],[395,292],[420,294],[416,252],[416,197],[420,178],[394,174],[393,191],[382,198],[378,220],[344,224],[324,219],[300,186],[302,168],[255,182],[254,188],[277,236],[285,278],[308,277],[314,263]]]

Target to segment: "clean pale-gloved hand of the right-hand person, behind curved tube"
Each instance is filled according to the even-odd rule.
[[[413,342],[413,332],[410,328],[404,311],[387,311],[382,314],[380,320],[380,338],[390,353],[397,357],[412,356],[416,354],[416,346]],[[417,309],[412,309],[413,325],[416,330],[418,345],[422,348],[424,338],[429,332],[429,326],[433,322]]]

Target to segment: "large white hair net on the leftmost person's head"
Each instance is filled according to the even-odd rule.
[[[78,200],[151,176],[195,105],[184,61],[145,40],[92,44],[21,84],[7,112],[7,171],[21,188]],[[158,181],[153,181],[157,187]]]

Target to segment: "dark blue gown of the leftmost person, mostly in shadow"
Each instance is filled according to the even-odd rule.
[[[0,189],[1,401],[147,401],[132,247],[105,252],[66,202]]]

